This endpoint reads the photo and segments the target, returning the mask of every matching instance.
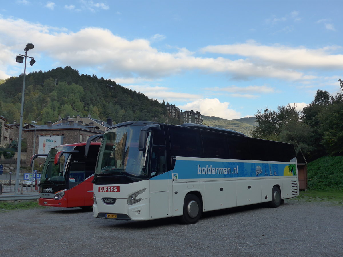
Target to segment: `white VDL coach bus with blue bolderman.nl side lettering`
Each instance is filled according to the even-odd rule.
[[[93,184],[96,218],[180,216],[186,224],[205,211],[263,202],[279,207],[299,194],[292,144],[191,123],[111,126]]]

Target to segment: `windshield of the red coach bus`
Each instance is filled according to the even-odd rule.
[[[47,156],[40,183],[51,182],[53,185],[66,185],[67,182],[67,169],[70,162],[70,154],[63,154],[60,158],[60,163],[55,165],[55,156],[59,151],[72,151],[74,146],[59,146],[51,148]]]

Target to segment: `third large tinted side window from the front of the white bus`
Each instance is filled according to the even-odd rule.
[[[248,137],[227,135],[230,159],[250,160]]]

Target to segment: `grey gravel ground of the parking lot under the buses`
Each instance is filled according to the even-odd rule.
[[[93,218],[80,208],[0,212],[0,256],[343,256],[343,205],[289,199],[177,219]]]

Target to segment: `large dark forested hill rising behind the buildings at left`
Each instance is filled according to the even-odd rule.
[[[23,74],[0,82],[0,115],[9,123],[20,119]],[[129,120],[158,121],[179,124],[170,118],[165,106],[142,93],[122,87],[110,79],[79,74],[70,66],[26,75],[24,122],[55,122],[59,117],[92,118],[114,123]]]

